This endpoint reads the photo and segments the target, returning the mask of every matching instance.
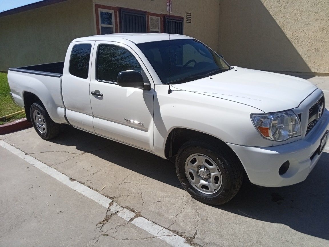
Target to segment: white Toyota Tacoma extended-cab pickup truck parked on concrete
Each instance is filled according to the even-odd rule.
[[[310,82],[231,67],[183,35],[75,39],[64,62],[9,69],[8,81],[41,138],[71,124],[170,159],[192,197],[215,205],[243,177],[267,187],[305,180],[329,129]]]

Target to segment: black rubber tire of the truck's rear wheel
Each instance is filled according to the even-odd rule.
[[[34,119],[34,113],[41,113],[40,116],[42,116],[42,122],[44,121],[46,128],[43,129],[38,129],[35,119]],[[31,105],[30,107],[30,116],[31,116],[31,121],[34,129],[37,131],[38,135],[44,139],[44,140],[50,140],[56,136],[58,136],[59,131],[60,131],[60,124],[55,123],[54,121],[51,120],[49,117],[48,112],[44,108],[43,104],[41,101],[35,102]],[[44,131],[44,133],[43,133]]]

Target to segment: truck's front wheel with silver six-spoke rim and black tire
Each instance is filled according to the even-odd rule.
[[[233,151],[205,141],[190,141],[181,147],[176,172],[193,198],[213,205],[230,201],[243,180],[242,164]]]

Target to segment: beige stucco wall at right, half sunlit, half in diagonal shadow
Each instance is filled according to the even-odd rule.
[[[218,50],[230,64],[329,73],[328,0],[219,1]]]

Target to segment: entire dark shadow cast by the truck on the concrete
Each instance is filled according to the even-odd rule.
[[[174,165],[152,153],[120,144],[63,125],[61,135],[51,142],[75,146],[116,165],[182,188]],[[324,152],[309,177],[298,184],[279,188],[259,188],[245,181],[227,204],[211,206],[260,221],[278,223],[329,240],[329,153]],[[182,193],[186,193],[182,191]]]

